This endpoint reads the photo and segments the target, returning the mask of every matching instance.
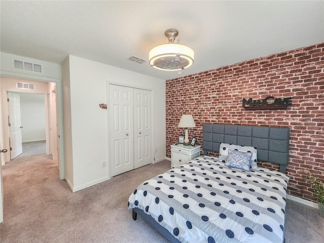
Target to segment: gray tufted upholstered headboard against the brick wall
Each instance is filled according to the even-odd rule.
[[[289,128],[204,124],[204,154],[207,151],[219,152],[221,143],[253,146],[258,150],[258,160],[279,164],[280,172],[286,173],[289,134]]]

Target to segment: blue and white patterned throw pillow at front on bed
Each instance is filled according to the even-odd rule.
[[[250,172],[251,152],[228,150],[228,157],[225,166]]]

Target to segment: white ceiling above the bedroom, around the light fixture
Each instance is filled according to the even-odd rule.
[[[2,0],[0,7],[1,52],[58,64],[70,54],[161,79],[324,42],[324,1]],[[195,52],[180,74],[148,63],[169,28]]]

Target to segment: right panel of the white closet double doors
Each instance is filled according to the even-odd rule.
[[[134,169],[153,163],[151,91],[134,89]]]

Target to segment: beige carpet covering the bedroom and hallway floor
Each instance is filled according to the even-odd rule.
[[[45,154],[45,144],[26,143],[23,154],[3,166],[0,241],[168,242],[140,217],[134,221],[127,203],[138,184],[169,168],[170,161],[160,161],[72,193],[58,179],[58,162]],[[288,200],[286,242],[320,243],[323,238],[318,210]]]

